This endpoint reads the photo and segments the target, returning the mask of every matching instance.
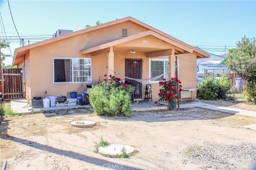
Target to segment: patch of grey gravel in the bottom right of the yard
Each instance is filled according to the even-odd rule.
[[[193,163],[203,169],[244,169],[256,160],[256,145],[191,145],[182,152],[183,164]]]

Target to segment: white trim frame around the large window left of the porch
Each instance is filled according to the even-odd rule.
[[[83,83],[92,83],[92,58],[81,58],[81,57],[53,57],[52,58],[52,67],[53,67],[53,73],[52,73],[52,75],[53,75],[53,84],[77,84],[77,83],[81,83],[81,82],[74,82],[74,69],[73,69],[73,67],[74,67],[74,65],[72,64],[72,82],[55,82],[54,81],[54,72],[55,72],[55,70],[54,70],[54,60],[55,59],[59,59],[59,60],[73,60],[73,59],[90,59],[91,60],[91,81],[86,81],[86,82],[83,82]],[[73,63],[73,62],[72,62]]]

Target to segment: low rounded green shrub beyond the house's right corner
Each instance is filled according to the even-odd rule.
[[[231,92],[232,83],[227,77],[216,79],[214,77],[205,77],[198,84],[198,98],[206,100],[227,99]]]

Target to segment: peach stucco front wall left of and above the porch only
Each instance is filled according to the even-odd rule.
[[[141,25],[126,21],[106,28],[83,33],[50,44],[31,48],[25,56],[28,65],[26,77],[26,98],[47,95],[67,95],[67,91],[81,92],[81,83],[53,83],[53,57],[81,57],[79,52],[95,45],[107,43],[122,38],[122,29],[126,28],[128,36],[147,31]],[[93,56],[92,83],[97,84],[99,79],[107,73],[107,54]],[[19,63],[20,64],[20,63]],[[85,89],[85,86],[84,86]]]

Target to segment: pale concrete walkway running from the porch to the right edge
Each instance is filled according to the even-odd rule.
[[[190,107],[201,107],[201,108],[207,108],[214,111],[220,111],[225,113],[231,113],[231,114],[237,114],[237,115],[244,115],[244,116],[251,116],[256,117],[256,112],[252,111],[245,111],[237,108],[231,108],[231,107],[222,107],[222,106],[215,106],[215,105],[209,105],[202,102],[192,102],[189,104],[181,104],[180,108],[190,108]]]

